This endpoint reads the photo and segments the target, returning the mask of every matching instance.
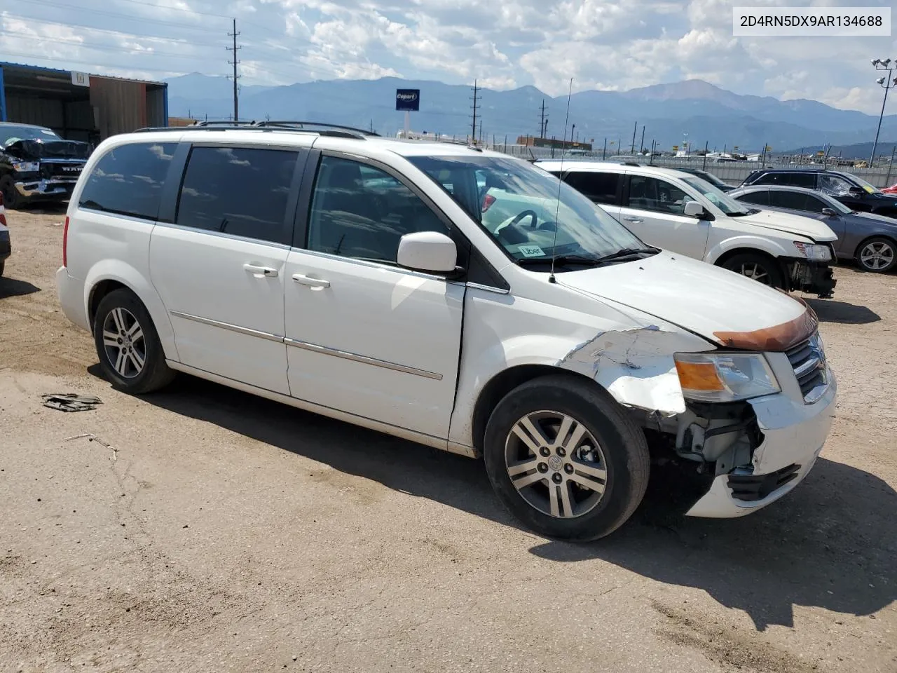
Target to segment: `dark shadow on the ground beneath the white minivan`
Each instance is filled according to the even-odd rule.
[[[100,376],[99,365],[91,373]],[[318,460],[346,474],[518,528],[479,460],[374,433],[180,376],[144,400],[257,441]],[[793,626],[793,607],[872,615],[897,599],[897,493],[876,476],[820,459],[779,503],[737,520],[679,513],[679,468],[652,471],[644,502],[614,535],[589,544],[546,540],[532,554],[566,564],[602,559],[667,584],[705,590],[744,610],[758,629]]]

